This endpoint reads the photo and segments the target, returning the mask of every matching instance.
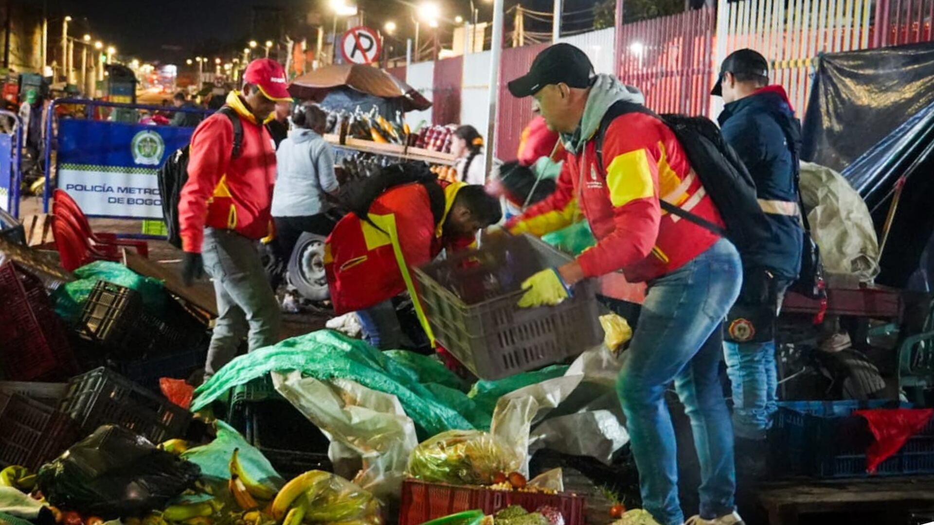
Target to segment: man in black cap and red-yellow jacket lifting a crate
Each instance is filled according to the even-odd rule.
[[[682,525],[677,454],[664,393],[674,382],[701,463],[701,514],[692,525],[739,525],[733,435],[718,380],[722,322],[742,282],[729,240],[667,214],[661,200],[723,227],[720,212],[664,122],[642,110],[638,90],[592,76],[583,51],[543,50],[529,74],[509,82],[559,132],[568,151],[558,188],[510,220],[513,233],[542,235],[586,218],[597,245],[532,276],[519,305],[555,305],[575,283],[621,271],[647,282],[645,302],[617,382],[644,508],[661,525]]]

